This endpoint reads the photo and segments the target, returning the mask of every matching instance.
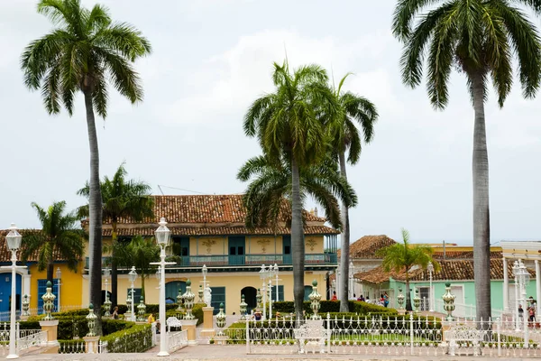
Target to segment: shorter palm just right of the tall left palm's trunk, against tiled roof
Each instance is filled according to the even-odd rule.
[[[111,242],[115,244],[117,239],[117,226],[121,218],[133,218],[141,222],[144,218],[154,217],[154,200],[150,197],[151,186],[142,181],[126,180],[128,172],[122,163],[116,170],[113,179],[107,176],[100,183],[103,199],[103,216],[111,222]],[[79,196],[87,199],[90,196],[88,183],[81,190]],[[88,217],[88,205],[79,208],[79,216]],[[116,248],[112,248],[115,255]],[[117,298],[118,272],[115,257],[111,259],[111,304],[115,307]]]

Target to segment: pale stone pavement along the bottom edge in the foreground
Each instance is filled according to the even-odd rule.
[[[37,351],[37,350],[36,350]],[[307,360],[393,360],[393,361],[470,361],[470,360],[489,360],[500,359],[506,360],[505,357],[473,357],[473,356],[363,356],[363,355],[327,355],[327,354],[309,354],[309,355],[246,355],[246,347],[244,345],[197,345],[192,347],[184,347],[179,351],[171,354],[169,357],[158,357],[157,349],[152,349],[152,352],[144,354],[78,354],[78,355],[60,355],[60,354],[37,354],[29,352],[21,356],[21,360],[28,361],[89,361],[89,360],[118,360],[118,361],[150,361],[150,360],[182,360],[182,361],[210,361],[210,360],[225,360],[225,361],[243,361],[246,359],[271,361],[271,360],[292,360],[292,361],[307,361]],[[536,360],[539,358],[513,358],[513,360]]]

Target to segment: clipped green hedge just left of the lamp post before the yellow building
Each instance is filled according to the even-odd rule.
[[[103,336],[100,340],[107,342],[107,352],[109,353],[145,352],[152,347],[151,325],[133,324],[129,329]]]

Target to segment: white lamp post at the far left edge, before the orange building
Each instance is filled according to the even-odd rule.
[[[15,333],[16,330],[16,322],[15,322],[15,308],[16,308],[16,290],[15,290],[15,284],[16,284],[16,274],[15,270],[17,268],[26,268],[26,266],[18,266],[17,265],[17,251],[19,248],[21,248],[21,241],[23,239],[23,236],[17,232],[17,227],[15,227],[15,224],[12,223],[11,227],[9,227],[9,233],[7,236],[5,236],[5,240],[7,241],[7,247],[12,253],[12,264],[2,266],[3,269],[11,269],[12,270],[12,296],[11,296],[11,314],[10,314],[10,325],[9,325],[9,355],[5,358],[19,358],[19,355],[17,355],[17,347],[15,346],[15,340],[17,338],[17,335]]]

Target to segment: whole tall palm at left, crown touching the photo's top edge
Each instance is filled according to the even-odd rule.
[[[113,23],[102,5],[88,10],[79,0],[41,0],[38,13],[57,27],[24,49],[21,67],[25,85],[32,90],[41,88],[49,114],[60,113],[62,104],[72,116],[76,94],[80,91],[85,97],[90,145],[89,294],[99,310],[102,200],[94,112],[105,119],[109,83],[132,103],[142,100],[141,81],[132,63],[149,54],[151,44],[132,25]]]

